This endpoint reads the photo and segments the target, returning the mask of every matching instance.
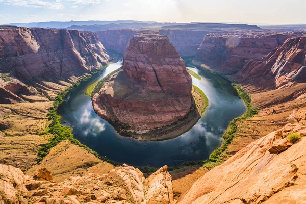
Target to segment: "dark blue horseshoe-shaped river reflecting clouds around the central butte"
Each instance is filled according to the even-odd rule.
[[[202,77],[200,81],[192,77],[193,84],[202,89],[209,99],[207,111],[190,131],[174,139],[156,142],[140,142],[118,136],[113,127],[94,112],[85,91],[90,84],[121,65],[122,61],[111,64],[100,75],[82,83],[67,95],[58,109],[67,122],[65,125],[73,127],[76,139],[110,160],[134,166],[160,167],[207,159],[220,145],[221,136],[230,121],[246,110],[229,81],[209,71],[188,67]]]

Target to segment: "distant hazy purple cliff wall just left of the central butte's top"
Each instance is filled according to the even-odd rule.
[[[120,29],[97,31],[96,34],[106,49],[123,54],[136,32],[136,30]]]

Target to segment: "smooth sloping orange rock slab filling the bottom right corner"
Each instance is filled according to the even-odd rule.
[[[305,116],[305,112],[294,113],[291,124],[213,168],[177,203],[305,203]],[[302,138],[293,143],[288,133]]]

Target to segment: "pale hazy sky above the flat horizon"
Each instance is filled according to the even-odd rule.
[[[70,20],[306,24],[306,0],[0,0],[0,24]]]

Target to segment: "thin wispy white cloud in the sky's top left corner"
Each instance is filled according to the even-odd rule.
[[[33,8],[63,9],[63,5],[59,1],[0,0],[0,3],[7,5],[14,5],[14,6],[33,7]]]

